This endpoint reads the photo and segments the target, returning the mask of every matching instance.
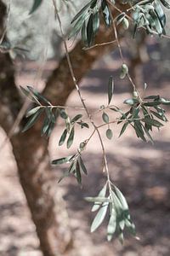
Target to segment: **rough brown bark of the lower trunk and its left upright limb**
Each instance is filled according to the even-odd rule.
[[[4,15],[5,7],[0,2],[1,30]],[[14,65],[8,54],[0,54],[0,67],[0,125],[8,133],[22,102],[14,84]],[[26,133],[16,132],[10,142],[42,253],[44,256],[63,255],[71,247],[71,230],[61,190],[55,189],[56,184],[52,183],[48,141],[40,137],[40,131],[37,124]]]

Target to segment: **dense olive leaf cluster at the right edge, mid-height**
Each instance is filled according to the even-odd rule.
[[[147,139],[153,142],[150,132],[154,127],[159,130],[163,126],[163,122],[167,122],[165,109],[161,105],[170,105],[170,101],[160,96],[146,96],[142,102],[138,97],[133,97],[124,103],[130,107],[126,113],[119,108],[111,108],[121,113],[121,118],[117,121],[117,124],[123,123],[119,137],[126,131],[127,126],[131,125],[137,137],[144,142]]]

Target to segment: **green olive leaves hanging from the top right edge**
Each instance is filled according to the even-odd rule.
[[[170,5],[167,1],[150,0],[137,1],[137,3],[135,3],[135,1],[132,0],[128,2],[132,4],[132,8],[129,9],[128,12],[131,13],[135,24],[133,35],[135,35],[137,29],[140,27],[145,28],[146,32],[150,34],[156,33],[159,36],[166,34],[166,15],[164,14],[161,4],[164,5],[165,8],[169,9]],[[85,5],[71,21],[71,24],[74,24],[74,26],[69,38],[75,38],[79,32],[82,32],[82,42],[86,47],[92,46],[94,44],[94,38],[99,31],[99,23],[101,20],[99,16],[103,16],[103,20],[107,27],[111,27],[113,23],[111,4],[106,0],[92,0],[87,3],[87,5]],[[129,16],[124,12],[116,15],[114,19],[116,20],[116,25],[122,25],[124,29],[128,28],[129,21],[131,21],[129,20]],[[126,75],[126,67],[124,72],[123,69],[124,68],[122,67],[122,78]]]

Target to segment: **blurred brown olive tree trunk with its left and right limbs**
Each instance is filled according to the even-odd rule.
[[[0,1],[0,29],[3,29],[5,8]],[[2,34],[2,32],[1,32]],[[100,27],[96,41],[101,43],[114,40],[111,30]],[[102,42],[103,43],[103,42]],[[101,55],[115,47],[114,44],[105,44],[98,48],[82,50],[78,43],[71,51],[71,61],[77,81],[80,81]],[[22,106],[20,94],[14,84],[14,65],[8,54],[0,54],[0,125],[7,132],[14,124],[14,120]],[[59,67],[54,70],[48,79],[44,96],[55,105],[64,105],[67,97],[74,89],[66,58],[60,61]],[[24,125],[23,119],[20,130]],[[21,186],[25,192],[31,217],[36,225],[37,236],[44,256],[64,255],[71,248],[72,236],[59,187],[50,172],[48,158],[48,140],[41,137],[41,125],[31,128],[26,133],[15,131],[10,139],[14,157],[18,166]]]

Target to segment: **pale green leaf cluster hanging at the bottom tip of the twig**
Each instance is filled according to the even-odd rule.
[[[112,184],[108,189],[108,183],[105,183],[105,186],[99,191],[99,195],[96,197],[86,197],[85,199],[86,201],[94,202],[92,212],[98,211],[91,224],[91,232],[99,228],[107,216],[106,213],[109,211],[107,225],[108,241],[111,241],[115,234],[123,242],[125,229],[135,236],[135,226],[131,221],[127,201],[115,185]]]

